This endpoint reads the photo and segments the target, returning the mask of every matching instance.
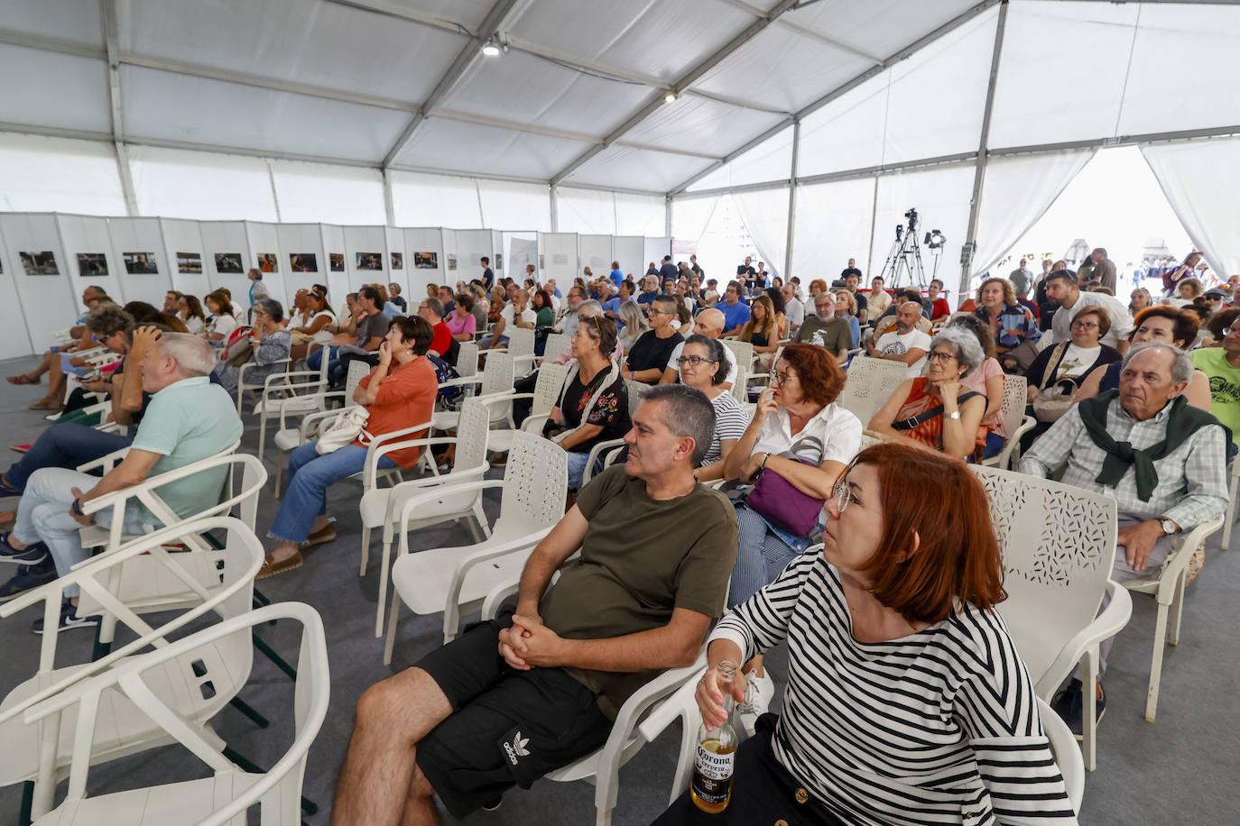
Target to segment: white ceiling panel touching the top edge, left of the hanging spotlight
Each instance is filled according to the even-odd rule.
[[[422,103],[467,42],[464,35],[322,0],[130,0],[120,9],[124,52],[407,103]],[[357,59],[361,54],[383,59]]]

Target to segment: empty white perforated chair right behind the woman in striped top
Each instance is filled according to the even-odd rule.
[[[1115,499],[1037,477],[977,467],[1003,555],[998,612],[1033,677],[1034,693],[1050,702],[1060,684],[1085,671],[1085,765],[1096,759],[1095,703],[1099,644],[1132,615],[1128,593],[1111,581],[1115,565]],[[1104,594],[1110,603],[1099,614]]]

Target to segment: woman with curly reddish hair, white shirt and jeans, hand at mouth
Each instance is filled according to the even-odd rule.
[[[785,347],[770,386],[758,399],[753,421],[723,462],[724,478],[750,484],[771,473],[795,488],[790,498],[821,503],[830,497],[861,447],[861,420],[835,404],[843,388],[844,373],[825,348],[804,343]],[[777,480],[769,482],[777,487]],[[779,576],[817,535],[817,526],[805,535],[791,530],[787,515],[769,508],[759,513],[745,502],[737,503],[739,547],[729,606],[744,602]],[[742,715],[749,729],[770,705],[775,685],[760,656],[746,670],[755,695],[751,708]]]

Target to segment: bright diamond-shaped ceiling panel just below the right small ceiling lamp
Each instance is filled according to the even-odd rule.
[[[740,144],[761,135],[782,115],[733,107],[709,98],[681,95],[665,104],[625,134],[625,141],[706,152],[723,157]],[[688,176],[682,176],[683,181]]]

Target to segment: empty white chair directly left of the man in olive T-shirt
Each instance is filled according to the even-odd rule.
[[[408,525],[428,503],[444,495],[500,488],[500,518],[482,542],[465,547],[436,547],[409,552]],[[399,602],[417,614],[444,612],[444,641],[460,627],[461,612],[480,603],[496,585],[520,576],[534,546],[564,515],[568,459],[557,445],[517,432],[503,479],[485,479],[444,487],[413,497],[401,510],[401,550],[392,566],[392,606],[388,609],[383,663],[392,661]],[[379,598],[386,594],[381,593]]]

